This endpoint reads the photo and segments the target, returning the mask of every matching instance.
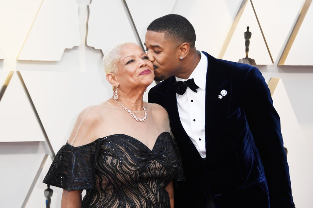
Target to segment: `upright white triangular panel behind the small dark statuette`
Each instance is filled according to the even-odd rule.
[[[239,59],[246,56],[244,32],[247,31],[248,26],[249,31],[252,33],[249,46],[249,58],[254,59],[257,65],[272,65],[261,30],[249,1],[244,8],[244,12],[233,33],[233,37],[229,42],[223,59],[238,62]]]

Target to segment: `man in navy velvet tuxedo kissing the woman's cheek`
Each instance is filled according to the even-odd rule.
[[[146,32],[155,80],[164,80],[148,101],[169,114],[186,178],[174,185],[175,207],[294,207],[280,118],[263,76],[197,51],[195,41],[190,22],[175,14]]]

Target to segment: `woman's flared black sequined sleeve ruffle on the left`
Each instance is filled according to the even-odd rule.
[[[44,183],[68,191],[93,189],[96,142],[73,147],[66,143],[56,154]]]

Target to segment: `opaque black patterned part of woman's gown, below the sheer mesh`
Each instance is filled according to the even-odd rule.
[[[82,207],[170,207],[165,187],[184,180],[180,155],[170,133],[153,149],[136,138],[114,134],[80,147],[65,144],[44,183],[87,189]]]

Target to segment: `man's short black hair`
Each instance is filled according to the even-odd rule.
[[[166,39],[182,44],[189,43],[193,48],[196,42],[196,33],[192,24],[183,16],[168,14],[155,19],[147,28],[147,31],[164,32]]]

